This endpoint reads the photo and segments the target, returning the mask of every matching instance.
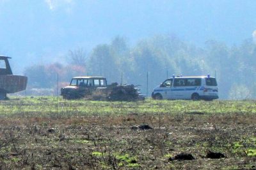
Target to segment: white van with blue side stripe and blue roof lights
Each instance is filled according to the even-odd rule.
[[[213,100],[218,97],[217,81],[214,77],[198,76],[183,77],[173,75],[166,79],[152,92],[154,99],[192,99],[192,100]]]

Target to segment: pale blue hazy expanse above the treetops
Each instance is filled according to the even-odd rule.
[[[90,50],[125,36],[135,43],[176,35],[196,45],[209,39],[232,45],[252,38],[255,0],[0,0],[0,55],[13,70]],[[256,36],[256,32],[254,33]]]

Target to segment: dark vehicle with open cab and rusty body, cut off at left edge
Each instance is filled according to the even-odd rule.
[[[0,56],[0,100],[4,100],[7,93],[25,90],[28,82],[26,76],[13,75],[8,59]]]

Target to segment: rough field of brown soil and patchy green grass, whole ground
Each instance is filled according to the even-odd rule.
[[[256,169],[255,162],[255,101],[0,102],[1,169]]]

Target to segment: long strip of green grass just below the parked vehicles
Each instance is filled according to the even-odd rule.
[[[201,112],[205,114],[255,114],[256,105],[253,101],[221,101],[212,102],[189,100],[152,100],[138,102],[102,102],[89,100],[63,100],[58,98],[58,111],[56,97],[20,98],[19,100],[1,102],[0,115],[12,115],[23,113],[23,116],[81,116],[84,114],[180,114]],[[86,107],[84,107],[86,106]],[[57,115],[58,114],[58,115]]]

